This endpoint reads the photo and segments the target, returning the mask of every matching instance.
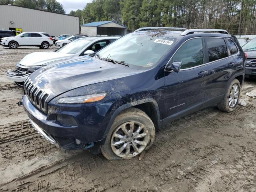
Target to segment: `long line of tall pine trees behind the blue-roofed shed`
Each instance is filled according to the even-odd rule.
[[[82,23],[114,20],[140,27],[219,28],[231,34],[256,34],[256,0],[93,0],[70,12]]]

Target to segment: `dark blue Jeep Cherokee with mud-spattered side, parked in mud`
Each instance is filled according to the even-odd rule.
[[[245,64],[225,30],[138,31],[94,58],[40,68],[24,82],[23,105],[50,142],[127,159],[176,118],[215,105],[235,110]]]

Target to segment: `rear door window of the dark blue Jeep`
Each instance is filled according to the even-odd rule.
[[[228,57],[225,40],[222,38],[205,38],[208,50],[209,62]]]

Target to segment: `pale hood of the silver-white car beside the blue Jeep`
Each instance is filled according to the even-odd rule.
[[[23,66],[41,66],[49,64],[50,62],[65,60],[72,58],[74,54],[65,54],[54,51],[48,52],[34,52],[26,55],[19,64]]]

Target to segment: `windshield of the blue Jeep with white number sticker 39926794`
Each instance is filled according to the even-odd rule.
[[[155,32],[128,34],[100,50],[97,56],[129,66],[149,68],[156,65],[176,41]]]

